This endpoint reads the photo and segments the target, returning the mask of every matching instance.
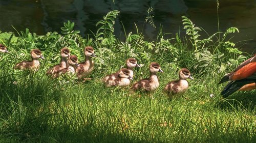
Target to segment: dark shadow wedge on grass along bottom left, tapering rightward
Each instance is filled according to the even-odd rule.
[[[58,115],[31,111],[22,123],[9,124],[8,129],[0,134],[0,142],[150,142],[136,136],[133,138],[112,127],[98,127],[93,122],[82,127],[74,127],[77,125],[67,123],[65,119],[52,123],[54,116]]]

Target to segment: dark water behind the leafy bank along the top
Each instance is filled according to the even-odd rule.
[[[250,40],[238,43],[238,47],[253,53],[256,50],[256,0],[220,0],[220,27],[225,31],[228,27],[238,27],[233,41]],[[116,25],[115,34],[123,37],[125,26],[127,33],[139,30],[147,15],[149,7],[154,8],[154,21],[157,27],[163,25],[163,32],[175,33],[182,30],[181,15],[188,16],[197,26],[202,26],[209,35],[218,31],[217,3],[215,0],[0,0],[0,30],[3,32],[18,31],[26,27],[31,32],[45,34],[48,31],[60,31],[63,21],[71,20],[76,23],[76,29],[82,36],[96,32],[95,24],[109,11],[121,11]],[[91,31],[90,31],[91,30]],[[144,35],[148,40],[155,40],[158,28],[144,26]],[[201,33],[202,35],[205,35]]]

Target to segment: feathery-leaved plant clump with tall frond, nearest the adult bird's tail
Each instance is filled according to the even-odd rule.
[[[194,48],[194,60],[196,60],[194,69],[197,69],[199,71],[216,72],[221,67],[228,67],[221,66],[222,63],[237,65],[236,62],[238,61],[234,59],[237,59],[238,56],[241,55],[243,52],[235,48],[236,44],[231,42],[230,39],[226,40],[226,37],[228,36],[228,34],[231,33],[239,33],[238,28],[228,28],[222,37],[220,36],[221,32],[217,32],[209,36],[209,38],[200,40],[199,32],[202,31],[201,28],[195,26],[195,24],[187,17],[182,16],[182,18],[184,29],[186,30],[186,34],[190,36],[189,41]],[[216,36],[217,34],[219,34],[219,37]],[[214,38],[217,39],[215,42],[213,41]],[[205,44],[209,42],[212,42],[213,44],[208,44],[208,46],[206,46]],[[245,57],[240,56],[240,59],[244,58]],[[229,61],[229,63],[227,63],[227,61]]]

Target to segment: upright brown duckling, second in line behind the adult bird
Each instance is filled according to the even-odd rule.
[[[159,87],[159,79],[157,72],[163,72],[158,63],[150,64],[150,78],[141,79],[133,84],[132,90],[134,91],[155,91]]]

